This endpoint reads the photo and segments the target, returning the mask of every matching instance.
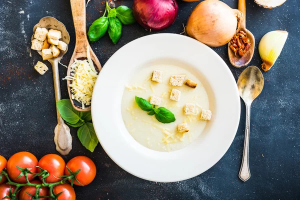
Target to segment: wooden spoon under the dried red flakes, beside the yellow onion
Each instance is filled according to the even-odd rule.
[[[236,30],[236,33],[238,33],[239,30],[244,31],[247,34],[246,36],[249,38],[251,45],[250,48],[247,50],[247,52],[245,52],[245,54],[242,57],[239,57],[238,55],[235,55],[234,52],[230,49],[229,47],[230,42],[229,42],[228,57],[233,66],[242,67],[247,65],[253,57],[255,39],[253,34],[246,29],[246,0],[238,0],[238,9],[242,12],[242,16],[240,18],[239,27]]]

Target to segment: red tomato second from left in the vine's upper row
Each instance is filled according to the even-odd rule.
[[[12,181],[18,183],[26,183],[24,175],[21,175],[19,178],[17,176],[20,174],[20,170],[16,167],[21,168],[31,168],[30,171],[36,173],[37,159],[36,157],[29,152],[23,151],[13,154],[7,161],[7,173]],[[17,178],[17,179],[16,179]],[[33,174],[28,173],[29,181],[33,179]]]

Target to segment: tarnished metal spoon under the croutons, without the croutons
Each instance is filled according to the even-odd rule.
[[[44,27],[44,28],[53,28],[61,31],[61,40],[64,41],[66,44],[69,43],[70,37],[68,32],[66,31],[65,26],[58,21],[57,19],[46,16],[39,20],[39,22],[33,27],[33,35],[31,37],[31,40],[34,39],[34,32],[37,27]],[[61,59],[61,57],[66,53],[67,48],[65,51],[60,50],[60,53],[57,57],[53,57],[51,59],[48,59],[48,61],[52,65],[52,72],[53,72],[53,80],[54,80],[54,91],[55,91],[55,100],[58,101],[61,99],[60,94],[60,84],[59,84],[59,73],[58,73],[58,62]],[[41,55],[41,51],[37,51]],[[66,155],[70,152],[72,149],[72,137],[70,134],[69,127],[64,123],[63,119],[61,118],[58,109],[56,108],[56,114],[57,114],[57,125],[54,129],[54,142],[56,145],[56,150],[62,154]]]

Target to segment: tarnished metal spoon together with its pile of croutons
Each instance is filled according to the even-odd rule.
[[[55,101],[61,99],[58,62],[67,51],[70,41],[65,26],[57,19],[46,16],[39,20],[33,27],[31,49],[37,50],[43,60],[48,60],[52,65]],[[54,129],[54,142],[56,150],[66,155],[72,149],[72,137],[69,127],[64,123],[57,108],[57,125]]]

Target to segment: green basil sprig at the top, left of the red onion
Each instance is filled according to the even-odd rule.
[[[107,16],[105,16],[107,11]],[[106,1],[103,16],[96,19],[88,28],[88,38],[90,42],[98,41],[107,31],[112,43],[116,43],[122,34],[122,23],[132,24],[135,22],[132,10],[125,5],[117,8],[110,8]]]

